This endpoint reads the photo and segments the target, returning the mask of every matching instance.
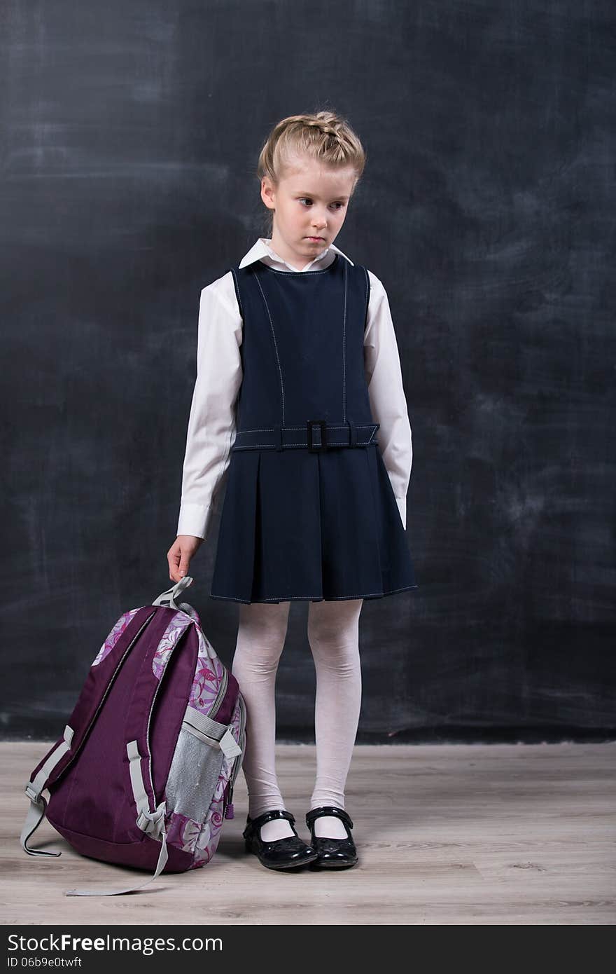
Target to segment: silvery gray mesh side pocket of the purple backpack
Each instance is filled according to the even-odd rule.
[[[178,811],[194,822],[202,822],[224,760],[220,748],[203,743],[182,728],[166,781],[167,811]]]

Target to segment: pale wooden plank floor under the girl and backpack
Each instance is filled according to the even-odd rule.
[[[79,856],[45,820],[28,856],[23,785],[48,742],[0,745],[5,924],[611,924],[616,920],[616,743],[356,745],[345,806],[360,862],[276,873],[244,852],[246,789],[212,862],[130,896],[70,897],[147,874]],[[304,814],[313,746],[278,745],[286,806]],[[47,794],[47,793],[45,793]],[[199,903],[202,910],[199,910]]]

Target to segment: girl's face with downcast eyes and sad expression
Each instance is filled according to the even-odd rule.
[[[344,223],[355,185],[355,170],[333,169],[314,159],[296,157],[277,188],[269,176],[261,199],[273,210],[272,248],[294,266],[304,267],[333,244]]]

